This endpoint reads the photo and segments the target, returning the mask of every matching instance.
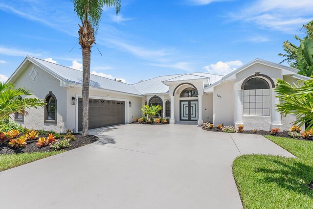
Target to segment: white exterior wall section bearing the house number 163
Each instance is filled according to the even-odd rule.
[[[218,97],[218,95],[220,97]],[[234,82],[224,81],[214,87],[213,123],[234,126]]]

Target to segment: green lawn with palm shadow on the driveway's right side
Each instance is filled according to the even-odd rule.
[[[313,209],[313,141],[274,136],[269,140],[296,158],[243,155],[233,174],[245,209]]]

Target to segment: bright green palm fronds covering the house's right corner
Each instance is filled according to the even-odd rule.
[[[276,106],[281,114],[294,114],[294,125],[306,125],[307,131],[313,128],[313,79],[292,85],[277,79],[274,91],[278,93],[276,97],[280,98]]]

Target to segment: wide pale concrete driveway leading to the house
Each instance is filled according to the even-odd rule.
[[[3,209],[241,209],[232,161],[293,157],[259,135],[194,125],[90,130],[100,140],[0,172]]]

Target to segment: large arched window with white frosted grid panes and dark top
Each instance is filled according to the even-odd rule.
[[[251,78],[244,85],[244,115],[269,116],[269,85],[262,78]]]

